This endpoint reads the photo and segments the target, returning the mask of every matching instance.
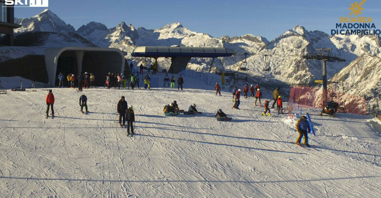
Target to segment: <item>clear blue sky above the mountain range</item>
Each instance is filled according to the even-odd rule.
[[[330,34],[340,16],[348,16],[356,0],[49,0],[49,9],[78,29],[96,21],[108,28],[125,21],[158,29],[180,22],[191,31],[214,37],[261,35],[269,40],[295,25]],[[359,3],[361,0],[357,0]],[[106,3],[108,2],[108,3]],[[363,14],[381,29],[381,0],[367,0]],[[45,8],[15,8],[15,16],[31,17]]]

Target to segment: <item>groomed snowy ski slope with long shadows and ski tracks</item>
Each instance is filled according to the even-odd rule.
[[[230,92],[218,97],[214,87],[184,80],[183,91],[53,88],[54,119],[45,118],[46,88],[1,94],[0,197],[381,195],[381,136],[371,117],[309,109],[309,143],[318,150],[307,150],[294,145],[296,118],[262,116],[254,99],[232,110]],[[89,115],[79,113],[82,94]],[[121,96],[134,106],[134,137],[117,124]],[[173,100],[203,114],[163,116]],[[233,120],[218,122],[219,108]]]

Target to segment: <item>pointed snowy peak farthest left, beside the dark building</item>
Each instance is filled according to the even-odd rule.
[[[15,29],[15,33],[23,32],[56,32],[56,33],[74,33],[72,25],[66,24],[61,18],[52,11],[45,9],[36,16],[24,19],[15,19],[15,22],[22,27]]]

